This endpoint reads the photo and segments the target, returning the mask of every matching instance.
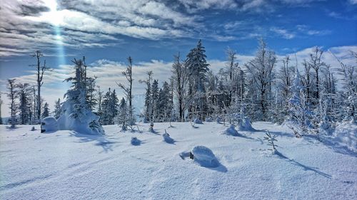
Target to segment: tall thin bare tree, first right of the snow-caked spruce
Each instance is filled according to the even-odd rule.
[[[135,124],[135,117],[134,117],[134,107],[133,107],[133,59],[129,56],[128,58],[128,67],[126,67],[126,70],[122,72],[122,74],[125,76],[126,80],[128,81],[128,85],[124,86],[122,83],[116,83],[119,88],[124,90],[124,94],[126,95],[126,99],[129,102],[129,125],[133,126]]]

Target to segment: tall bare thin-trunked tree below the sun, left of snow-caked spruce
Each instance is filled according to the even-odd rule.
[[[37,120],[41,120],[41,86],[44,84],[42,79],[44,78],[44,72],[49,70],[46,66],[46,60],[44,60],[44,64],[41,65],[40,58],[44,56],[41,51],[36,51],[32,57],[36,57],[37,63],[36,65],[31,65],[36,67],[36,74],[37,74]]]

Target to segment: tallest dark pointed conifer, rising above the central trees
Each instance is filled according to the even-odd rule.
[[[207,114],[205,82],[209,64],[205,53],[206,50],[199,40],[197,46],[188,53],[185,61],[189,77],[188,97],[192,99],[189,112],[201,120],[204,120]]]

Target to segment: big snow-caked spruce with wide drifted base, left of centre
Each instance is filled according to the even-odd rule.
[[[104,135],[99,124],[99,116],[91,112],[86,102],[86,68],[82,60],[74,59],[74,77],[66,78],[71,82],[71,89],[64,95],[63,114],[59,117],[60,130],[74,130],[83,134]]]

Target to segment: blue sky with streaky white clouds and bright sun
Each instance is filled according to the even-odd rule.
[[[186,56],[198,39],[217,68],[223,67],[228,46],[241,63],[251,58],[258,38],[280,56],[308,56],[306,49],[313,46],[343,56],[357,46],[356,0],[30,0],[5,1],[0,8],[1,92],[7,78],[33,81],[29,64],[35,60],[29,54],[37,49],[59,73],[44,84],[45,90],[64,90],[61,75],[68,75],[70,60],[81,56],[97,70],[112,73],[105,66],[124,68],[129,55],[141,68],[169,69],[173,55]]]

